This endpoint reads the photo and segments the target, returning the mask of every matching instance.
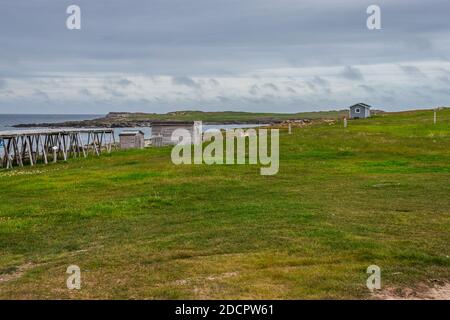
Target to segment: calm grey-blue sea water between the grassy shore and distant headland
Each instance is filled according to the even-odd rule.
[[[0,114],[0,131],[20,130],[25,128],[14,128],[15,124],[22,123],[58,123],[65,121],[81,121],[101,118],[101,114]],[[235,129],[235,128],[254,128],[262,126],[261,124],[222,124],[222,125],[203,125],[203,131],[208,129]],[[150,127],[138,128],[114,128],[116,139],[123,130],[138,129],[144,132],[145,138],[150,138],[152,129]]]

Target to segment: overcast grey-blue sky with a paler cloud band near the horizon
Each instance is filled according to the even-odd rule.
[[[449,87],[448,0],[0,0],[0,113],[404,110]]]

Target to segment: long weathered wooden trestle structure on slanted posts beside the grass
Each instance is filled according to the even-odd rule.
[[[83,138],[87,142],[83,142]],[[116,148],[114,131],[93,129],[33,129],[0,131],[1,166],[31,166],[50,161],[66,161],[90,153],[99,156]]]

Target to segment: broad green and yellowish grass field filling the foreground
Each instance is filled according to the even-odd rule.
[[[280,136],[280,170],[170,148],[0,171],[0,298],[370,298],[450,279],[450,109]],[[82,289],[66,288],[67,266]]]

